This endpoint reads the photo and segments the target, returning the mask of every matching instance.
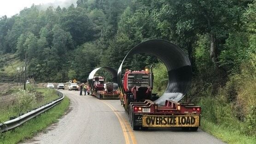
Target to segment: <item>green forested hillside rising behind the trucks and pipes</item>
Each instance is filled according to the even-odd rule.
[[[169,40],[192,62],[192,88],[185,100],[201,104],[208,122],[256,134],[255,0],[76,3],[45,11],[33,5],[1,17],[1,55],[16,54],[21,61],[26,55],[28,73],[36,81],[86,80],[95,67],[117,69],[126,53],[144,40]],[[163,92],[167,79],[159,75],[166,74],[159,60],[135,55],[125,67],[144,69],[151,64],[158,74],[157,91]]]

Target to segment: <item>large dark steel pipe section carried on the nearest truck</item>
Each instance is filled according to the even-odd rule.
[[[126,58],[134,54],[145,53],[159,58],[168,70],[169,82],[163,95],[155,103],[164,105],[165,100],[179,102],[188,92],[192,79],[192,69],[189,58],[180,47],[161,39],[147,40],[132,48],[123,59],[118,72],[117,81],[121,92],[122,86],[122,64]]]

